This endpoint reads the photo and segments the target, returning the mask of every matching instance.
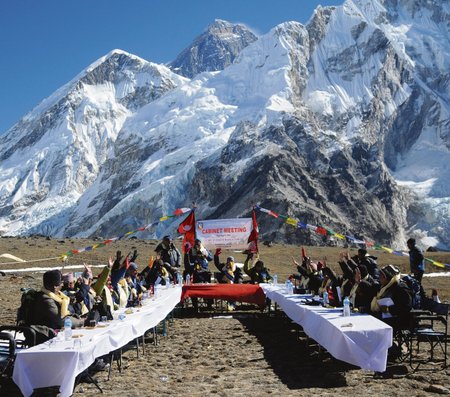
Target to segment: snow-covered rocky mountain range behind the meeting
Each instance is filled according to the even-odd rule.
[[[347,0],[257,39],[216,21],[172,71],[113,51],[2,137],[1,232],[112,236],[192,201],[212,218],[260,202],[448,248],[449,36],[447,2]]]

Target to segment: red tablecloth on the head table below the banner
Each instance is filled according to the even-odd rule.
[[[229,301],[256,303],[264,306],[266,295],[256,284],[190,284],[183,285],[181,300],[185,298],[225,299]]]

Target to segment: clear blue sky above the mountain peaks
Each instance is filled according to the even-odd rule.
[[[343,0],[3,0],[0,134],[115,48],[169,62],[216,18],[258,34]]]

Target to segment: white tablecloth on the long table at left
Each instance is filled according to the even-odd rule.
[[[76,376],[96,357],[119,349],[158,325],[180,302],[180,297],[180,287],[160,288],[158,298],[144,301],[143,307],[133,308],[133,314],[126,314],[123,320],[113,320],[94,329],[74,329],[74,336],[81,335],[80,338],[46,342],[17,353],[14,382],[25,396],[36,388],[49,386],[60,386],[61,397],[70,396]],[[74,348],[75,339],[81,340],[78,349]]]

